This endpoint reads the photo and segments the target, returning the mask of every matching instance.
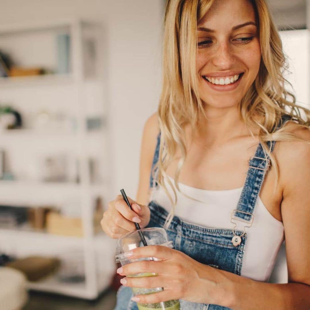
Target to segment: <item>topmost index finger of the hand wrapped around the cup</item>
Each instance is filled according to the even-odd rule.
[[[127,252],[130,259],[156,257],[161,260],[171,259],[179,251],[168,248],[167,246],[142,246]]]

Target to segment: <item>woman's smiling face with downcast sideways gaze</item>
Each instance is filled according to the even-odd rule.
[[[261,60],[255,11],[248,0],[216,0],[198,23],[197,72],[206,106],[237,106]]]

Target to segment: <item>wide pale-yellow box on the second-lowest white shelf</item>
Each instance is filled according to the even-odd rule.
[[[54,211],[47,214],[46,230],[54,235],[83,237],[81,218],[67,217]]]

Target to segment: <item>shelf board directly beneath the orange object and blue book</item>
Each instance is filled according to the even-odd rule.
[[[0,77],[0,87],[28,85],[63,85],[73,83],[72,74],[42,74],[24,77]]]

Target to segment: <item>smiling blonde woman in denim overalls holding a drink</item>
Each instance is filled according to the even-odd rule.
[[[128,253],[161,261],[118,269],[158,276],[122,279],[117,310],[170,299],[310,308],[310,112],[284,89],[284,67],[265,0],[167,1],[162,96],[144,127],[137,199],[131,211],[117,196],[102,227],[119,238],[133,222],[164,226],[175,249]],[[266,283],[284,233],[289,283]],[[133,297],[130,287],[164,290]]]

